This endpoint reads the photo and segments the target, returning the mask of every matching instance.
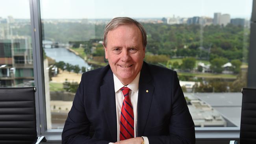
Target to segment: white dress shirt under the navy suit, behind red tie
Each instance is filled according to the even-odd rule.
[[[132,107],[134,110],[134,136],[137,137],[137,103],[138,103],[138,94],[139,94],[139,74],[136,76],[136,78],[126,87],[130,89],[129,97],[132,103]],[[122,102],[124,101],[124,95],[122,94],[122,91],[120,90],[123,85],[121,81],[113,74],[114,78],[114,86],[115,86],[115,106],[117,110],[117,141],[120,140],[120,116],[121,116],[121,109],[122,109]],[[149,144],[147,137],[142,137],[144,139],[145,144]],[[113,144],[110,142],[109,144]]]

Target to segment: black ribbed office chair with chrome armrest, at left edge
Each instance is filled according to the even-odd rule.
[[[38,144],[35,87],[0,88],[0,144]]]

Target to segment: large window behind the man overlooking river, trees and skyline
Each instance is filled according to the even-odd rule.
[[[239,130],[251,11],[252,0],[1,1],[0,87],[37,86],[38,131],[59,134],[82,73],[108,65],[104,27],[132,17],[145,61],[178,72],[196,131]]]

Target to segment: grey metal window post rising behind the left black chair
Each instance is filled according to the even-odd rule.
[[[42,135],[46,130],[45,115],[45,86],[43,73],[43,49],[41,36],[41,17],[39,0],[30,0],[30,19],[32,31],[33,68],[35,92],[35,106],[37,116],[37,134]]]

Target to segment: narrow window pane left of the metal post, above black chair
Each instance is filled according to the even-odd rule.
[[[0,87],[34,86],[29,0],[0,3]]]

